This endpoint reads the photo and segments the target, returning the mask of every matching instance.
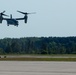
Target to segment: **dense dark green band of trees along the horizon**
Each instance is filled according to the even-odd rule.
[[[76,54],[76,37],[4,38],[0,54]]]

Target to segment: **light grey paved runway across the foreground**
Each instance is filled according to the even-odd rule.
[[[76,62],[0,61],[0,75],[76,75]]]

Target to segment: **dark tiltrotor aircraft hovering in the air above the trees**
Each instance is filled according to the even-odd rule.
[[[7,26],[9,26],[9,25],[18,26],[19,25],[18,20],[24,20],[24,23],[27,23],[28,15],[35,14],[35,12],[32,12],[32,13],[21,12],[21,11],[17,11],[17,12],[24,14],[24,17],[23,18],[12,18],[12,14],[11,14],[10,18],[4,18],[3,16],[8,17],[8,15],[4,14],[5,11],[1,12],[0,13],[0,23],[2,23],[3,20],[6,20]]]

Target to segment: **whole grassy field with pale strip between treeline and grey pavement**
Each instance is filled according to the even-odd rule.
[[[0,61],[76,61],[76,55],[1,55]]]

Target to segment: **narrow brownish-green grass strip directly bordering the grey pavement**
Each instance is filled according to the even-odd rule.
[[[0,58],[0,61],[76,61],[76,58]]]

